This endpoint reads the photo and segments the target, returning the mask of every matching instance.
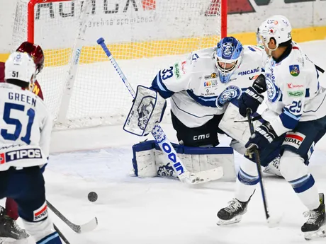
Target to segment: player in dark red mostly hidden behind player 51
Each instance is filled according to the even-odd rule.
[[[35,45],[31,42],[23,42],[16,52],[27,52],[30,57],[33,58],[36,65],[36,74],[42,71],[44,66],[44,54],[39,45]],[[4,63],[0,63],[0,82],[4,81]],[[42,89],[38,81],[34,81],[30,87],[30,91],[38,95],[43,100]],[[11,199],[6,199],[6,209],[0,206],[0,238],[13,238],[23,239],[27,238],[28,234],[25,230],[19,228],[16,224],[18,219],[18,207],[16,202]]]

